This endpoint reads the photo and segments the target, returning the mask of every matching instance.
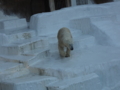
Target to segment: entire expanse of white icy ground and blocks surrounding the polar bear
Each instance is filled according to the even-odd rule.
[[[0,90],[120,90],[120,2],[0,22]],[[74,50],[61,58],[60,28]]]

